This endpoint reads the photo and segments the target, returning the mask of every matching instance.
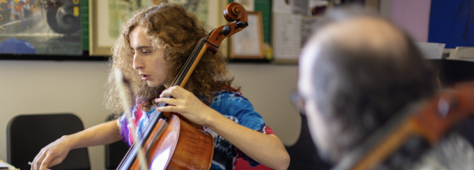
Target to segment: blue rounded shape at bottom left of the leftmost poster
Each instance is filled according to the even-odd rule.
[[[36,54],[36,49],[26,40],[9,38],[0,43],[0,54]]]

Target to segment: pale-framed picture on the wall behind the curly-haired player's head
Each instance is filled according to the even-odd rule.
[[[208,2],[209,1],[209,2]],[[209,6],[215,6],[211,1],[217,0],[89,0],[89,55],[109,56],[115,40],[119,37],[123,22],[132,17],[140,8],[146,8],[160,2],[177,3],[188,11],[196,13],[199,20],[209,23]],[[100,9],[100,10],[99,10]]]

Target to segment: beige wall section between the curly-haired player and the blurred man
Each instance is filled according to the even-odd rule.
[[[229,70],[242,86],[243,96],[283,144],[293,145],[300,135],[301,118],[289,102],[289,93],[297,89],[298,66],[232,63]]]

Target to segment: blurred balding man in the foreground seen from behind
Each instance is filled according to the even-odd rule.
[[[298,94],[321,156],[337,163],[402,109],[431,97],[436,79],[411,38],[390,22],[353,9],[329,17],[300,55]],[[424,153],[375,169],[474,169],[473,148],[459,135]]]

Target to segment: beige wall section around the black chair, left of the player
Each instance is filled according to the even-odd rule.
[[[7,160],[6,126],[18,114],[70,111],[86,128],[104,122],[107,69],[97,61],[0,61],[0,160]],[[104,150],[89,148],[93,169],[105,169]]]

